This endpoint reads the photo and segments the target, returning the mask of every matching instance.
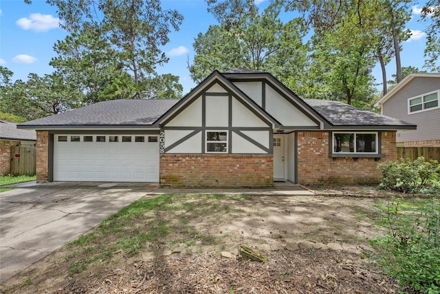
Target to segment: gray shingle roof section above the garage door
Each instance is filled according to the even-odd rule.
[[[178,100],[112,100],[21,123],[26,125],[152,125]]]

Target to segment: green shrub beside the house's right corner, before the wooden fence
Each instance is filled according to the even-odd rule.
[[[382,171],[381,189],[394,189],[405,193],[429,193],[434,188],[440,191],[440,165],[437,160],[425,161],[419,157],[414,161],[400,158],[396,162],[378,165]]]

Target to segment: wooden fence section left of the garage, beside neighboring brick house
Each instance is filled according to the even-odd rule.
[[[36,148],[32,146],[11,147],[10,174],[14,176],[34,176],[36,165]]]

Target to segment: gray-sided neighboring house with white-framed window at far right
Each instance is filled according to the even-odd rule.
[[[440,147],[440,74],[408,74],[375,106],[382,114],[417,125],[397,131],[400,147]]]

